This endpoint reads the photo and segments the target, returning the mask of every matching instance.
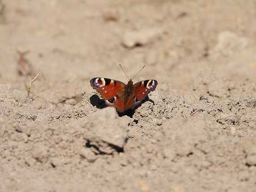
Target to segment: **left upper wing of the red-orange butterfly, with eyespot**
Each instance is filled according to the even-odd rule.
[[[122,93],[125,84],[121,81],[112,80],[110,78],[94,77],[90,80],[90,85],[93,89],[101,94],[102,98],[109,100],[117,94]]]

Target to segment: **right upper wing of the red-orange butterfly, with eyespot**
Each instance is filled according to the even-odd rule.
[[[150,93],[150,91],[154,91],[157,87],[156,80],[145,80],[137,82],[133,85],[134,95],[137,101],[141,101],[145,99],[145,97]]]

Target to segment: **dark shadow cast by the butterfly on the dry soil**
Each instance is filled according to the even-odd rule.
[[[134,107],[133,109],[129,109],[129,110],[126,110],[126,111],[124,111],[124,112],[118,112],[118,111],[117,111],[119,117],[123,117],[123,116],[127,115],[128,117],[131,117],[131,118],[132,118],[133,115],[134,115],[134,113],[135,113],[135,111],[136,111],[136,109],[137,109],[138,107],[140,107],[141,104],[143,104],[143,103],[145,103],[145,102],[147,102],[147,101],[149,101],[149,102],[155,104],[152,99],[150,99],[148,96],[146,96],[146,98],[145,98],[140,104],[138,104],[136,107]],[[99,98],[99,96],[96,95],[96,94],[94,94],[94,95],[92,95],[92,96],[90,97],[90,104],[92,104],[92,106],[96,106],[96,107],[99,108],[99,109],[108,107],[108,106],[106,105],[106,103],[105,103],[105,100]]]

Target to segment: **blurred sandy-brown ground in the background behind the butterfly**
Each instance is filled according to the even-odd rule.
[[[0,82],[89,88],[102,76],[186,91],[205,74],[255,80],[256,1],[0,1]],[[207,77],[208,78],[208,77]]]

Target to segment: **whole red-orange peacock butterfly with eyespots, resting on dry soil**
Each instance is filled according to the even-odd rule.
[[[122,68],[121,65],[120,67]],[[124,84],[111,78],[94,77],[90,80],[90,85],[101,94],[107,106],[115,107],[118,112],[124,112],[138,106],[150,91],[157,88],[158,82],[156,80],[139,81],[133,84],[133,78],[128,78],[128,83]]]

